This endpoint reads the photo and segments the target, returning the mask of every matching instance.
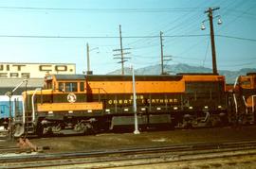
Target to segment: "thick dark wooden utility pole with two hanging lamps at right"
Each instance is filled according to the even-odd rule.
[[[217,9],[220,9],[220,8],[209,8],[208,10],[205,11],[205,13],[208,13],[208,17],[209,17],[209,21],[210,21],[209,23],[210,23],[210,43],[211,43],[211,55],[212,55],[212,73],[214,75],[218,74],[218,70],[217,70],[217,62],[216,62],[212,11],[217,10]]]

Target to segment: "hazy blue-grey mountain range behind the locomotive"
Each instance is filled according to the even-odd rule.
[[[164,70],[166,73],[170,75],[175,75],[178,73],[212,73],[210,68],[206,68],[203,66],[191,66],[188,64],[173,64],[173,65],[165,65]],[[228,70],[218,70],[219,75],[226,76],[226,82],[229,84],[234,83],[235,78],[237,76],[247,75],[247,73],[254,72],[256,73],[256,68],[243,68],[238,71],[228,71]],[[161,66],[153,65],[147,66],[139,69],[135,69],[135,75],[160,75]],[[107,75],[120,75],[121,70],[118,69],[116,71],[110,72]],[[124,75],[132,75],[132,71],[130,68],[124,68]]]

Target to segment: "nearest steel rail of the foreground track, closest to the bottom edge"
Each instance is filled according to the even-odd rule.
[[[245,152],[246,151],[246,152]],[[256,155],[256,150],[234,150],[218,151],[218,152],[197,152],[187,154],[140,154],[140,155],[119,155],[119,157],[95,157],[94,159],[80,158],[80,159],[65,159],[65,160],[53,160],[53,161],[29,161],[21,163],[5,164],[4,168],[34,168],[34,167],[57,167],[64,166],[70,168],[73,165],[82,165],[82,168],[104,168],[104,167],[123,167],[123,166],[136,166],[142,164],[155,164],[164,162],[177,162],[177,161],[199,161],[210,160],[216,158],[229,158],[229,157],[245,157]]]

